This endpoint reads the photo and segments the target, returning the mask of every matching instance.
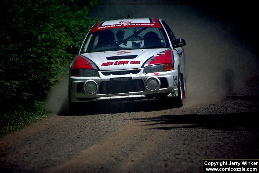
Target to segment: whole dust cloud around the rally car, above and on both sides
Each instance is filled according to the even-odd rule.
[[[246,94],[247,81],[259,76],[258,57],[236,31],[236,25],[203,13],[195,5],[99,2],[89,16],[100,21],[157,17],[165,20],[176,38],[186,41],[187,91],[184,106],[213,103],[233,94]],[[220,10],[220,9],[219,9]],[[87,31],[86,31],[87,33]],[[83,41],[83,38],[82,38]],[[48,96],[58,112],[67,98],[67,79]],[[66,106],[63,106],[66,107]]]

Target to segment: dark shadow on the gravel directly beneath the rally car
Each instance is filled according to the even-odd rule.
[[[100,100],[92,103],[78,103],[76,111],[69,113],[68,105],[63,106],[58,115],[95,115],[95,114],[116,114],[126,112],[149,112],[156,110],[172,109],[176,106],[171,102],[159,102],[155,99],[142,99],[133,101],[112,101]]]

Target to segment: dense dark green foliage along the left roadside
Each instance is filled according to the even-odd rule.
[[[0,0],[0,116],[46,96],[96,22],[87,17],[96,0]],[[35,105],[34,105],[35,106]],[[8,117],[5,117],[8,119]],[[11,117],[9,117],[11,118]],[[11,118],[17,120],[17,118]],[[1,125],[1,124],[0,124]]]

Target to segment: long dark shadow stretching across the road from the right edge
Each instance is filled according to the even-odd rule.
[[[258,131],[258,112],[214,115],[163,115],[131,120],[146,122],[147,129],[172,130],[176,128],[209,128],[231,131]]]

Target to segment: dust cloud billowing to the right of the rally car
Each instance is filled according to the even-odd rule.
[[[192,6],[177,22],[176,37],[186,40],[185,106],[213,103],[230,95],[246,95],[247,82],[259,76],[258,56],[231,22],[204,15]],[[174,23],[169,22],[174,28]],[[179,27],[180,26],[180,27]]]

